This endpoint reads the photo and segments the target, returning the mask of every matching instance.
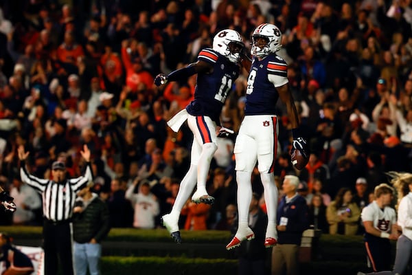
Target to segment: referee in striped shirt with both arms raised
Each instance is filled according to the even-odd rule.
[[[43,198],[45,275],[58,274],[59,261],[62,274],[73,275],[71,216],[76,192],[92,180],[89,148],[84,145],[83,151],[80,151],[87,168],[84,176],[76,179],[66,179],[66,166],[60,161],[52,164],[52,180],[34,177],[25,167],[29,152],[25,152],[24,146],[19,146],[18,153],[22,181],[41,193]]]

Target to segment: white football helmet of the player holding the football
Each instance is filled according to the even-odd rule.
[[[266,45],[256,45],[256,39],[258,38],[264,38]],[[280,50],[282,47],[282,32],[275,25],[264,23],[255,28],[251,40],[251,55],[264,57]]]

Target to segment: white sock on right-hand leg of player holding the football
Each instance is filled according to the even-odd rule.
[[[264,188],[264,201],[268,212],[268,226],[266,228],[266,237],[277,236],[276,230],[276,211],[277,211],[277,186],[273,173],[260,173]]]

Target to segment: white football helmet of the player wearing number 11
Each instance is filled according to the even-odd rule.
[[[213,39],[213,50],[233,63],[239,62],[243,47],[242,36],[236,30],[221,30]]]

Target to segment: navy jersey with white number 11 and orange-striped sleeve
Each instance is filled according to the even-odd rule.
[[[206,115],[220,125],[219,117],[223,104],[239,76],[240,67],[209,48],[198,54],[198,61],[210,63],[213,72],[197,75],[194,100],[187,105],[187,113]]]

